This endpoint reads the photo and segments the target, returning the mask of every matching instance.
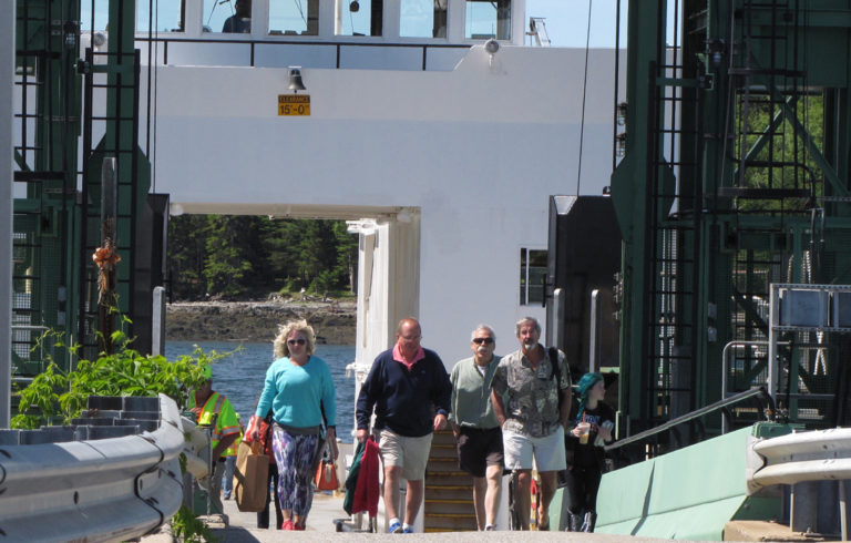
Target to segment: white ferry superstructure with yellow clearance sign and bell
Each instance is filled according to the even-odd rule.
[[[406,316],[448,369],[479,322],[495,328],[498,352],[513,350],[514,321],[544,317],[526,279],[546,250],[548,196],[608,184],[614,50],[588,51],[586,79],[585,50],[537,35],[525,47],[524,0],[443,0],[427,13],[361,1],[363,33],[380,35],[351,35],[357,2],[294,2],[309,10],[291,28],[274,17],[284,3],[255,0],[250,33],[235,34],[206,31],[202,2],[187,2],[183,31],[153,34],[140,106],[141,125],[147,111],[155,121],[153,189],[173,214],[350,221],[360,369]],[[136,38],[144,63],[148,33]],[[289,89],[295,66],[303,91]],[[279,111],[293,94],[309,96],[309,115]]]

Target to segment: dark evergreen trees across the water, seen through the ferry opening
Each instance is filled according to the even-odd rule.
[[[177,299],[355,290],[358,238],[344,221],[184,215],[168,226]]]

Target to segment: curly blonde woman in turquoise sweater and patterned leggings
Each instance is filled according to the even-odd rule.
[[[278,464],[281,530],[305,529],[314,500],[314,470],[326,441],[337,458],[336,391],[328,365],[312,356],[315,345],[314,329],[305,320],[280,327],[275,338],[277,360],[266,371],[255,412],[263,418],[271,409],[275,419],[271,448]]]

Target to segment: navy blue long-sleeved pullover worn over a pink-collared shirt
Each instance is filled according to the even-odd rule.
[[[369,428],[376,410],[376,430],[419,438],[434,429],[434,412],[449,413],[452,383],[437,352],[423,349],[426,358],[412,370],[393,360],[389,349],[376,357],[358,396],[358,429]],[[432,406],[434,410],[432,410]]]

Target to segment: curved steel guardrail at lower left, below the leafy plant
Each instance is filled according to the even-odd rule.
[[[171,519],[184,431],[174,400],[158,399],[153,432],[0,447],[0,543],[126,541]]]

